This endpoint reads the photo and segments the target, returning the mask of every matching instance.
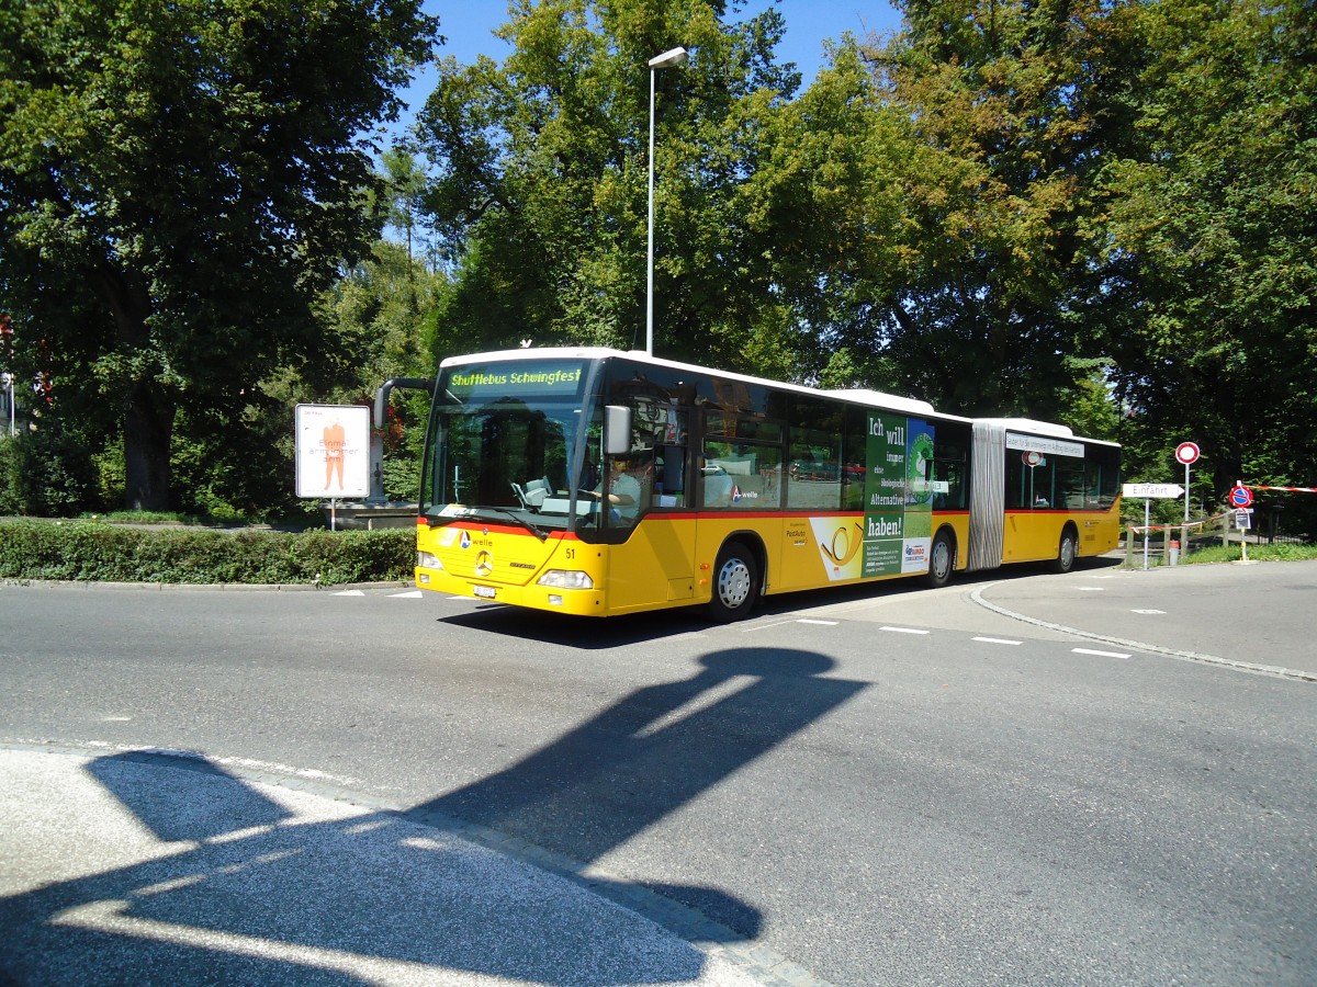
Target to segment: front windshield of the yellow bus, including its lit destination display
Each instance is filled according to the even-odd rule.
[[[565,530],[574,491],[597,483],[583,475],[597,457],[583,449],[578,457],[585,367],[520,361],[445,371],[431,422],[423,516],[432,524],[481,517],[541,538]],[[593,509],[589,497],[579,501],[578,516]]]

